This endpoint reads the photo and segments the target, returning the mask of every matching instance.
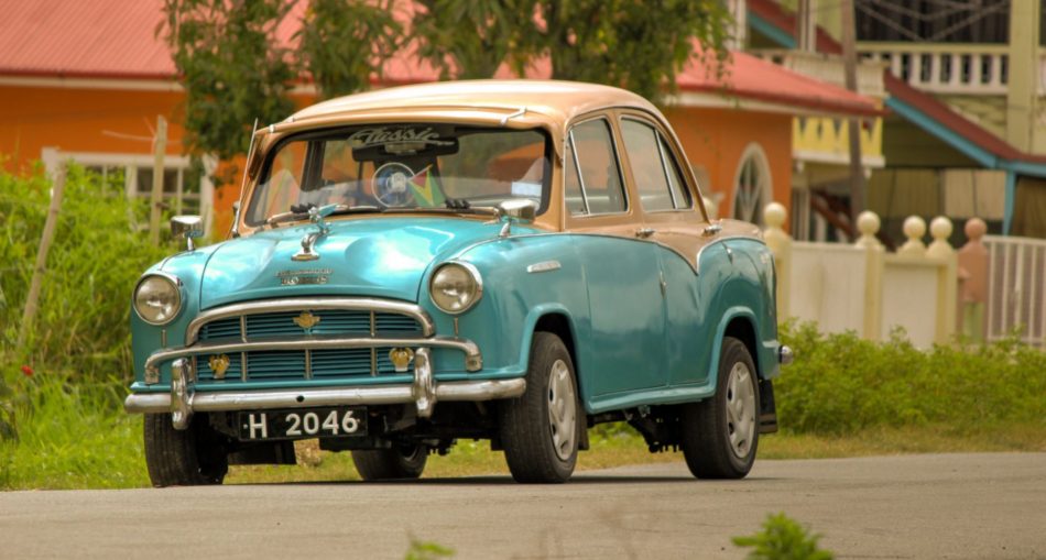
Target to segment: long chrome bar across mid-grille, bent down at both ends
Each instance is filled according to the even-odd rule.
[[[255,342],[203,342],[192,347],[172,350],[162,350],[145,360],[146,376],[155,374],[159,381],[161,363],[188,358],[197,354],[228,354],[232,352],[249,352],[251,350],[335,350],[348,348],[375,347],[414,347],[414,348],[450,348],[465,352],[465,367],[470,372],[483,367],[483,358],[479,347],[471,340],[451,338],[347,338],[347,337],[308,337],[308,338],[271,338]],[[146,380],[149,383],[149,380]]]

